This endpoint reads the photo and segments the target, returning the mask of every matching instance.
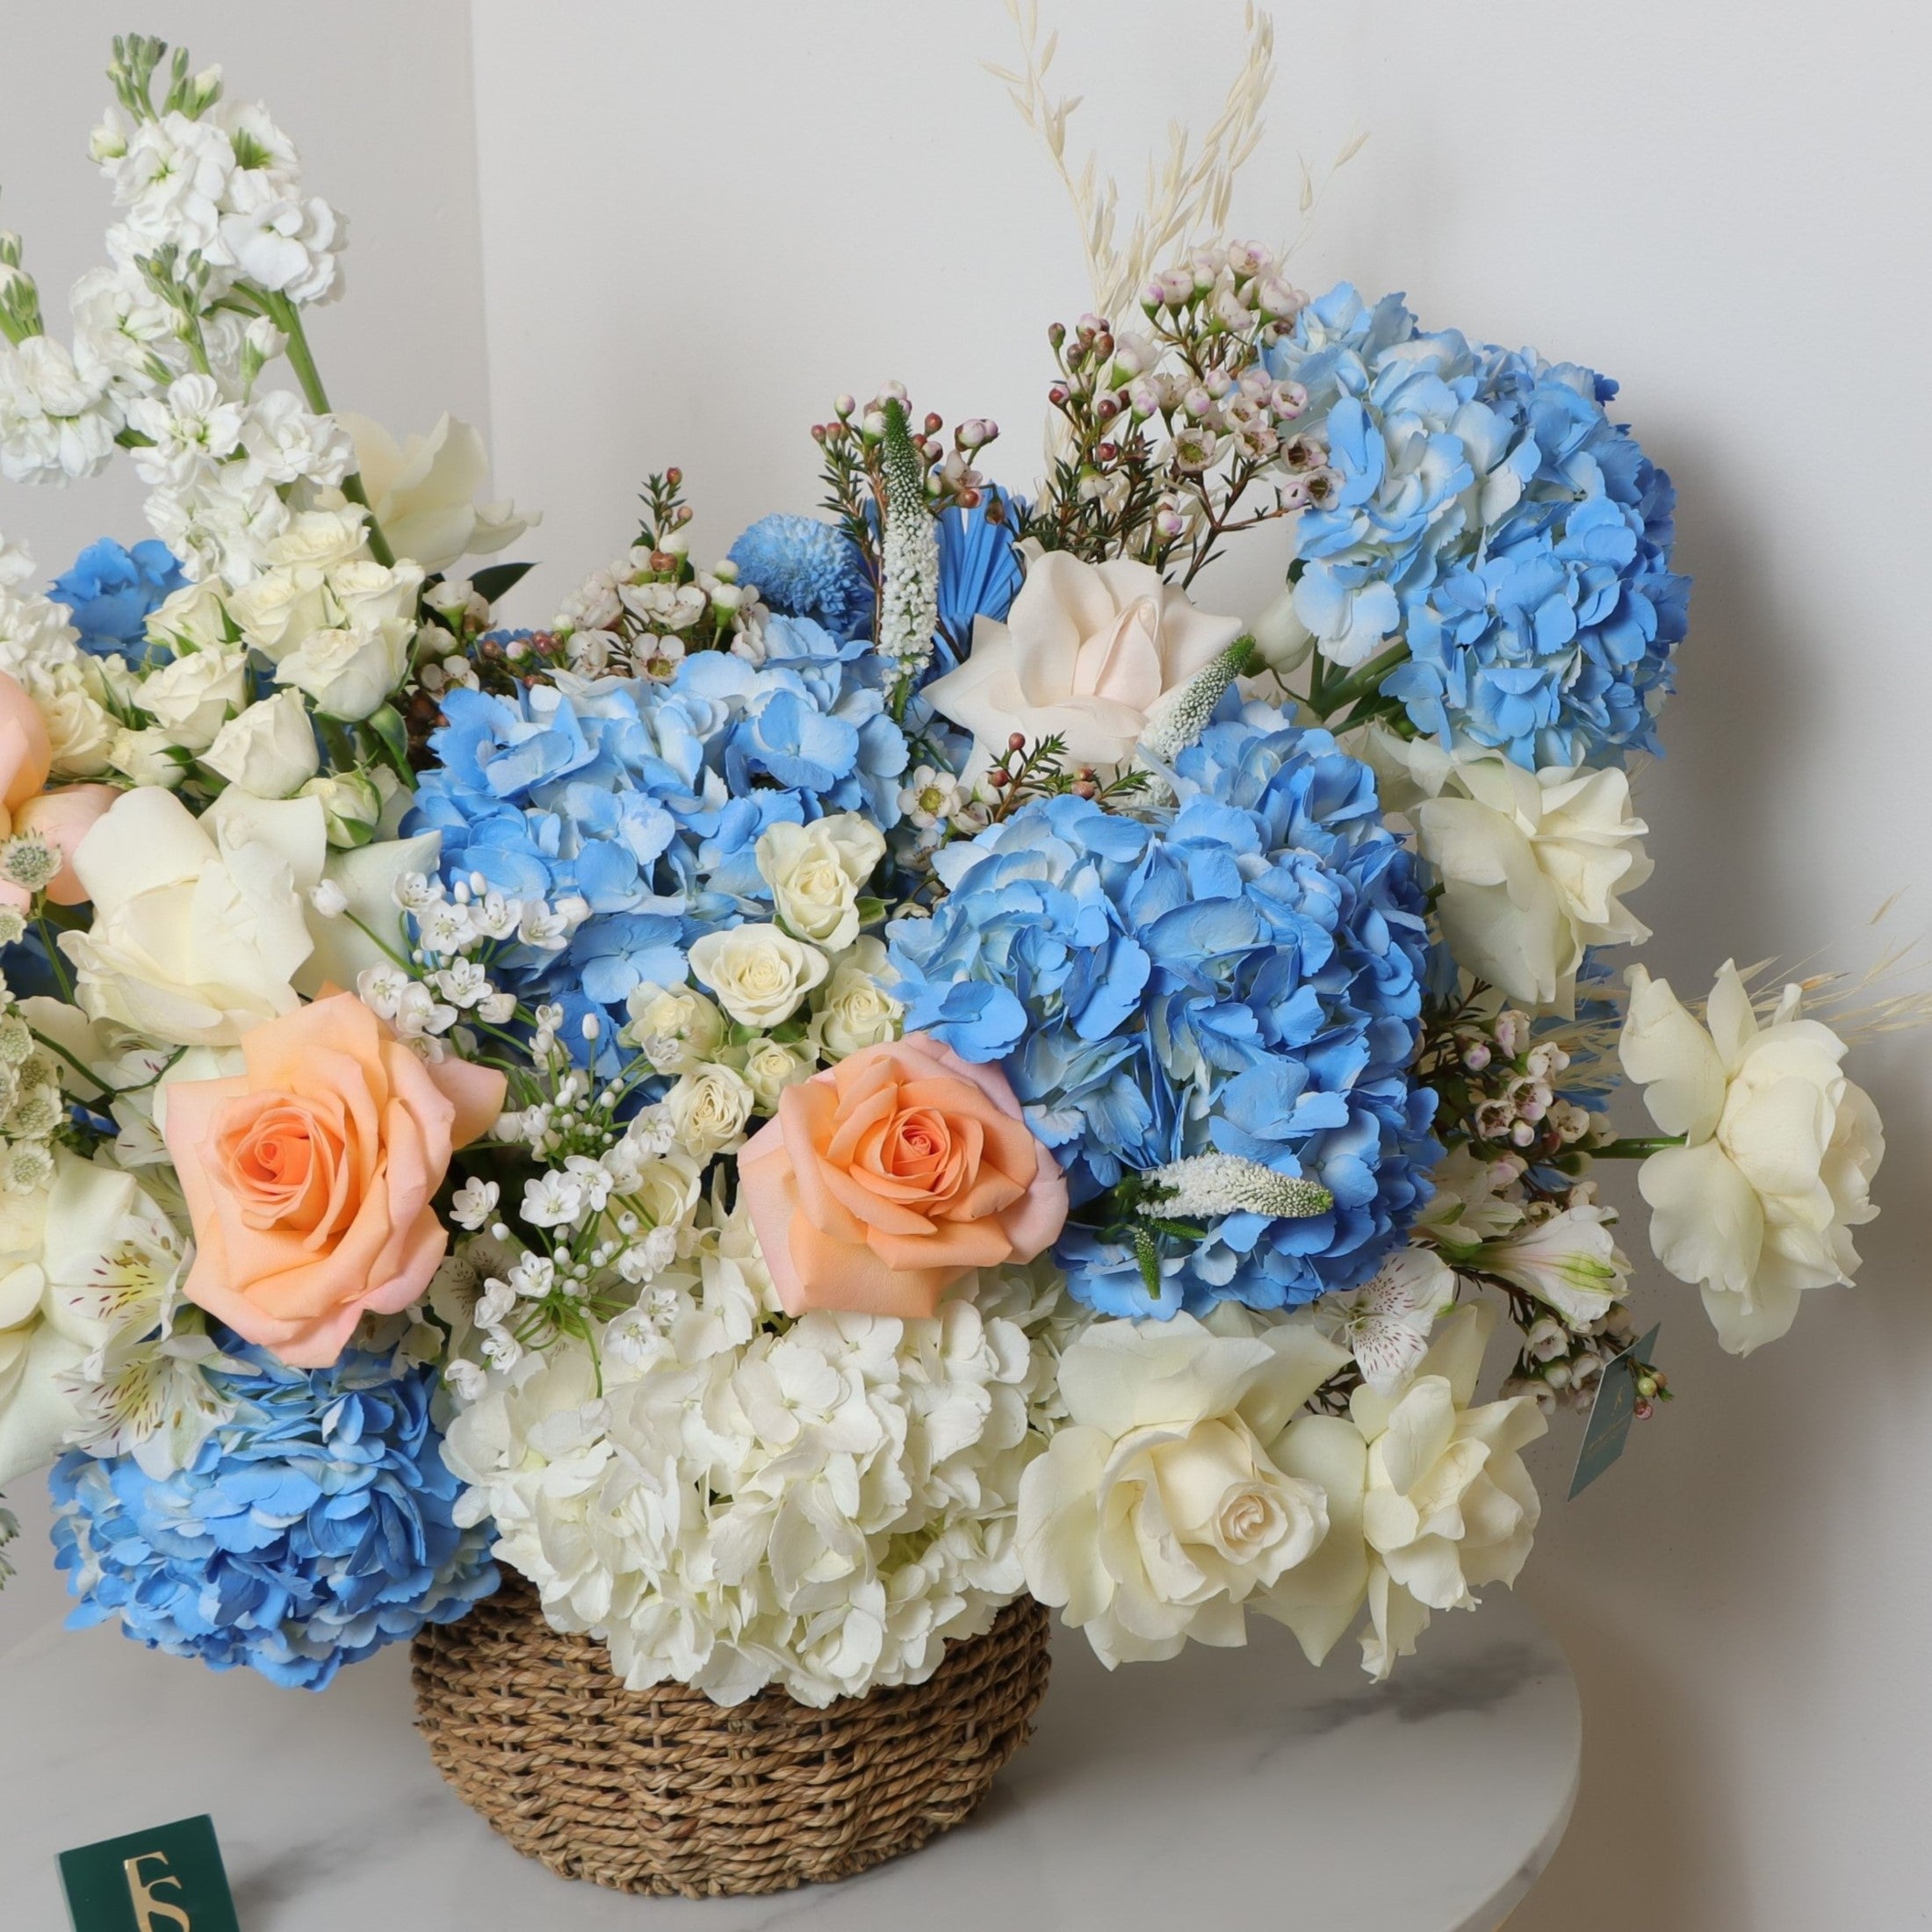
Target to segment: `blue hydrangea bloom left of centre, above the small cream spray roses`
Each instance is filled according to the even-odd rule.
[[[481,873],[512,898],[591,908],[566,952],[500,954],[504,983],[572,1016],[614,1012],[643,980],[680,983],[699,933],[771,918],[755,860],[767,825],[898,821],[906,738],[871,643],[779,616],[765,649],[763,665],[697,651],[665,684],[444,694],[439,769],[408,829],[442,833],[452,881]]]

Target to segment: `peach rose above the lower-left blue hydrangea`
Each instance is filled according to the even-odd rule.
[[[242,1039],[247,1072],[166,1090],[164,1138],[195,1223],[187,1298],[294,1368],[327,1368],[365,1312],[427,1287],[450,1150],[502,1109],[489,1066],[419,1061],[354,993]]]

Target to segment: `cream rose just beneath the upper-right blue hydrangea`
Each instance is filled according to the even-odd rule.
[[[1586,947],[1636,945],[1650,929],[1619,900],[1652,871],[1621,771],[1524,771],[1501,757],[1418,748],[1435,796],[1410,808],[1422,856],[1441,873],[1455,962],[1524,1005],[1569,1012]]]

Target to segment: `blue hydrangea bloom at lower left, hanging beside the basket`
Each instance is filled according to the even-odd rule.
[[[460,1484],[429,1420],[431,1374],[350,1350],[288,1368],[224,1341],[234,1414],[193,1463],[155,1478],[133,1457],[52,1470],[56,1563],[71,1627],[122,1631],[213,1669],[238,1663],[323,1690],[344,1663],[454,1623],[497,1588],[489,1526],[458,1528]]]

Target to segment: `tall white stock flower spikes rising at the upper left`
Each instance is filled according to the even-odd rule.
[[[178,62],[153,100],[158,43],[129,41],[120,104],[93,156],[122,218],[108,265],[73,286],[71,350],[41,323],[17,236],[0,236],[0,475],[70,481],[133,446],[155,533],[195,576],[245,582],[286,527],[292,485],[336,485],[354,456],[332,417],[257,394],[298,309],[340,288],[342,222],[301,187],[259,104]]]

